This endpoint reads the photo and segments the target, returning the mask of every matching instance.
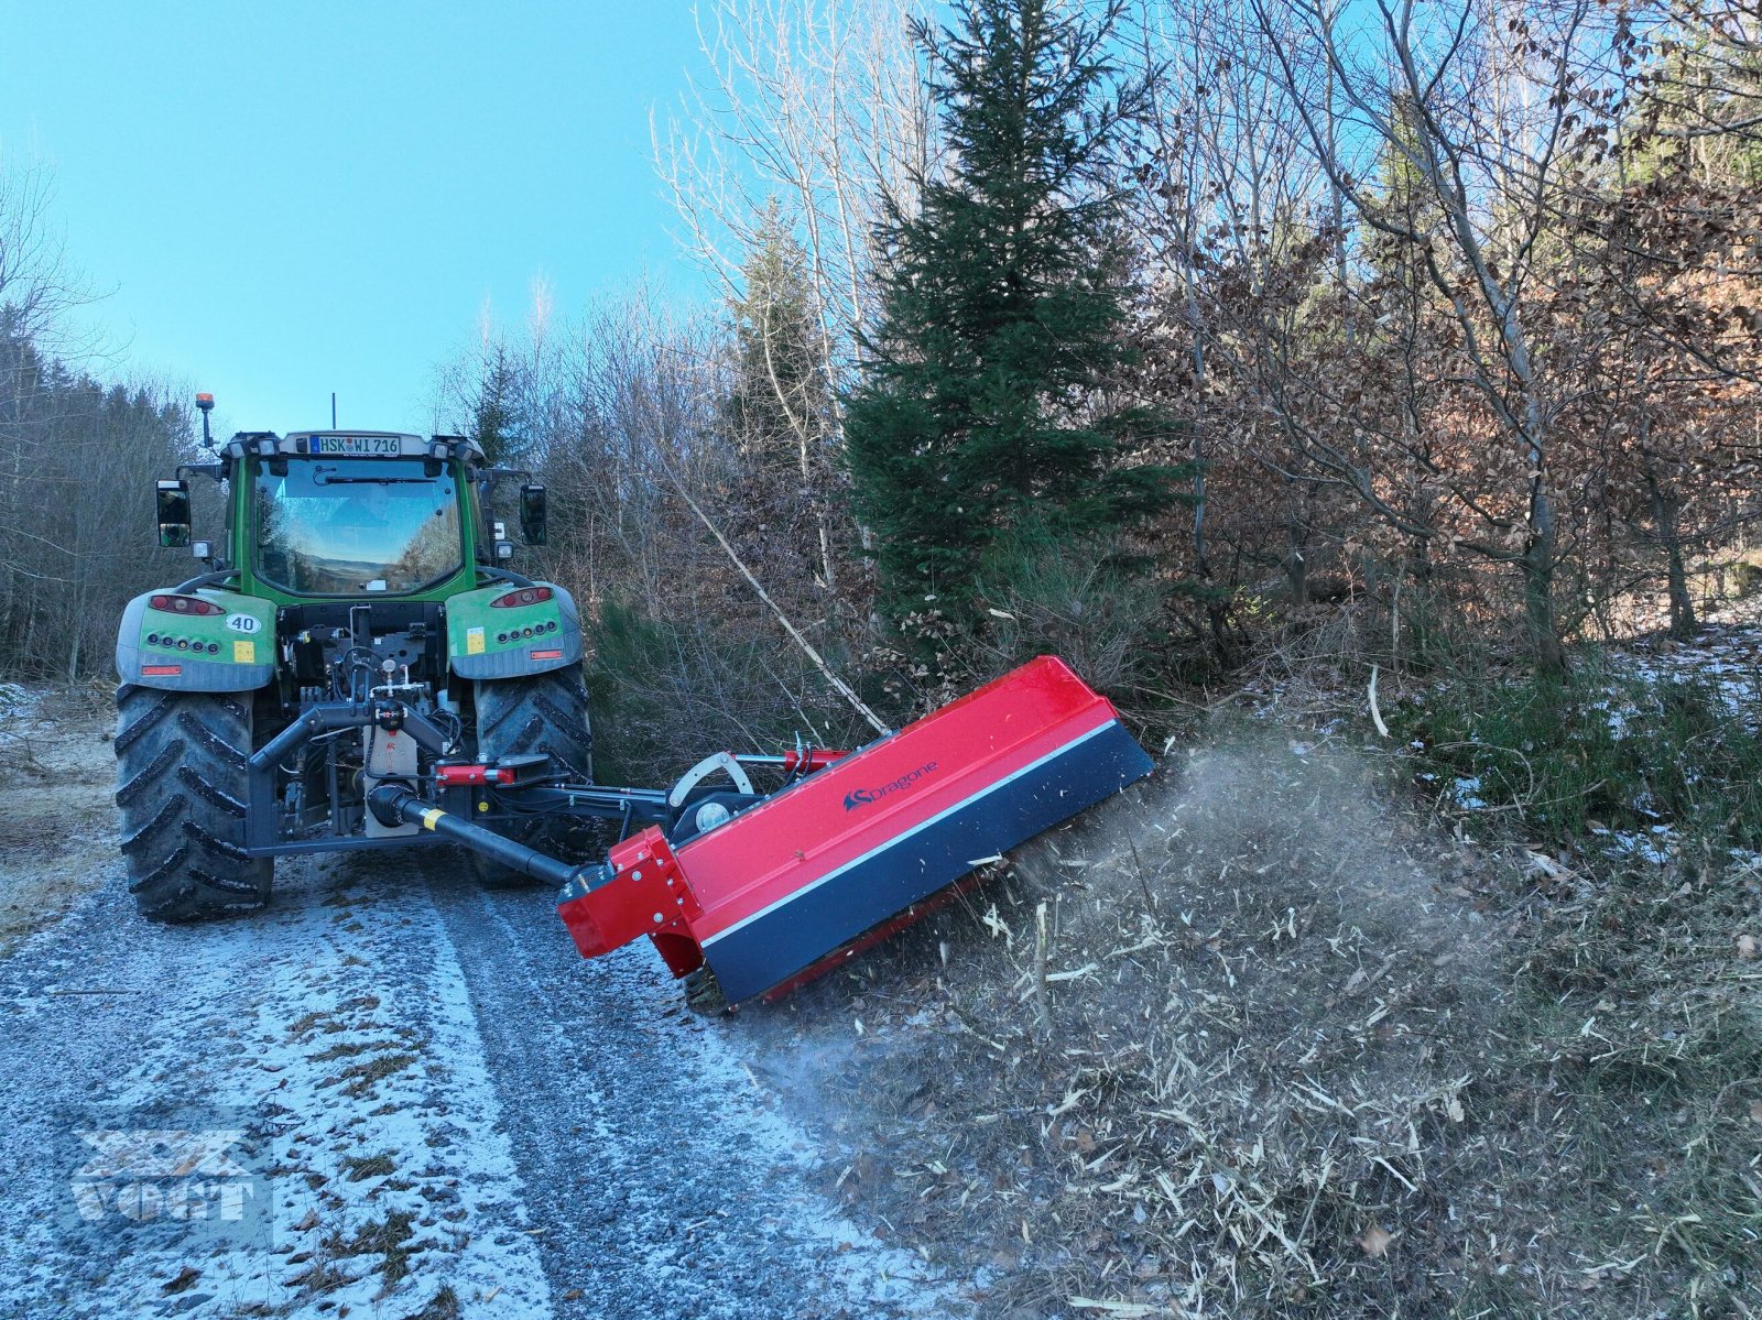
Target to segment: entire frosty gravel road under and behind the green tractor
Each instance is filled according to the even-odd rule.
[[[811,1191],[647,946],[583,962],[548,892],[298,858],[270,911],[164,929],[85,846],[93,890],[0,959],[0,1316],[969,1311]]]

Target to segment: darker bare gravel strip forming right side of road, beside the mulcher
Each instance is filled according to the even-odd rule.
[[[559,1316],[969,1313],[807,1186],[807,1138],[647,943],[583,962],[548,892],[449,894]]]

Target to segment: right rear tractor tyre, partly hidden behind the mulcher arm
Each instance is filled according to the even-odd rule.
[[[479,682],[476,701],[478,760],[495,761],[502,756],[544,753],[552,758],[552,767],[573,782],[594,781],[594,731],[589,726],[587,687],[581,686],[578,668]],[[566,862],[587,862],[599,846],[592,823],[562,816],[522,819],[502,827],[502,834]],[[465,857],[472,876],[486,888],[536,883],[479,853],[467,851]]]

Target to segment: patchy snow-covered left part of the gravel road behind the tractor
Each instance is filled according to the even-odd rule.
[[[284,862],[270,911],[201,927],[113,881],[0,962],[0,1315],[550,1313],[458,960],[388,857]],[[273,1250],[69,1214],[76,1128],[203,1114],[271,1170]]]

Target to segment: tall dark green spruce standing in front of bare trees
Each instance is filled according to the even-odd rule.
[[[957,28],[914,33],[950,164],[881,231],[881,321],[846,412],[895,612],[959,601],[987,546],[1024,527],[1107,534],[1177,499],[1179,469],[1126,458],[1158,418],[1107,402],[1129,365],[1105,178],[1135,99],[1107,56],[1115,12],[967,0]]]

